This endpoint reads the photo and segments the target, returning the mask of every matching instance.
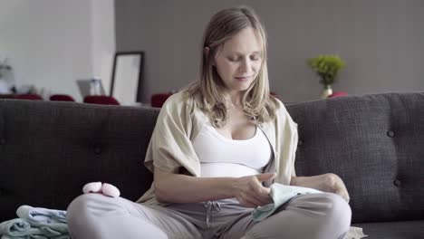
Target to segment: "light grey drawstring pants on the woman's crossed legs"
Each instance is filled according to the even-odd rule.
[[[67,209],[72,239],[307,238],[339,239],[349,230],[351,207],[330,193],[295,196],[274,215],[252,220],[236,199],[145,206],[122,197],[86,194]]]

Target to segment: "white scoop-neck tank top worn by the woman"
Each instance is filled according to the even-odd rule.
[[[256,127],[251,139],[227,139],[210,123],[193,141],[200,160],[200,177],[244,177],[261,174],[272,157],[264,132]]]

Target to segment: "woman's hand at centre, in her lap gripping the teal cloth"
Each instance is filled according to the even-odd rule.
[[[273,173],[254,176],[237,177],[233,184],[233,194],[241,206],[257,207],[272,203],[269,195],[271,189],[262,185],[262,182],[275,177]]]

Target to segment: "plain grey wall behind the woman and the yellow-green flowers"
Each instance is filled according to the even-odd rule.
[[[270,83],[284,101],[319,97],[305,61],[320,53],[347,62],[335,91],[424,91],[421,0],[116,1],[117,50],[146,53],[144,101],[197,79],[207,21],[232,5],[251,5],[265,23]]]

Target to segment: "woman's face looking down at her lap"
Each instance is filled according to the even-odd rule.
[[[262,64],[262,42],[252,27],[226,41],[215,56],[217,73],[231,95],[246,91]]]

